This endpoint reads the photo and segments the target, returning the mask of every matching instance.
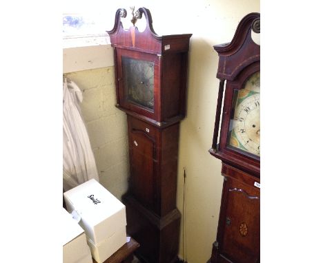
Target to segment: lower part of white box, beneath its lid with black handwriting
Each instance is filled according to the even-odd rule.
[[[126,244],[126,227],[117,229],[114,235],[99,244],[94,244],[88,239],[88,246],[90,246],[92,257],[97,263],[104,262],[124,244]]]

